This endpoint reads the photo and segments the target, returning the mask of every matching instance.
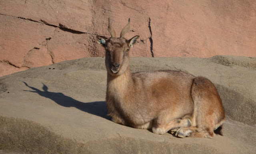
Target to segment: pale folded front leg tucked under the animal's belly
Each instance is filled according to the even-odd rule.
[[[155,134],[164,134],[171,129],[180,128],[180,127],[188,127],[188,126],[191,126],[191,122],[188,118],[174,119],[174,120],[171,120],[170,122],[168,122],[167,124],[157,124],[157,122],[155,122],[153,124],[152,131]]]

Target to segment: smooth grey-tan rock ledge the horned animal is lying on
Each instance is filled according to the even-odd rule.
[[[132,72],[180,70],[210,79],[226,111],[224,136],[176,138],[106,115],[103,57],[0,77],[0,150],[25,153],[255,153],[256,69],[249,57],[131,58]],[[228,65],[226,65],[229,63]]]

